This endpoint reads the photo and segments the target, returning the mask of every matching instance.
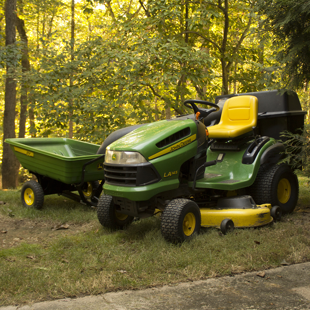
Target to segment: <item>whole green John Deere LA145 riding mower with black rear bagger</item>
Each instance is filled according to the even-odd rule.
[[[285,148],[276,139],[303,126],[298,96],[255,92],[215,102],[186,100],[194,114],[126,127],[104,141],[97,152],[105,153],[103,226],[160,212],[163,237],[182,242],[201,226],[226,233],[294,210],[298,180],[277,165]]]

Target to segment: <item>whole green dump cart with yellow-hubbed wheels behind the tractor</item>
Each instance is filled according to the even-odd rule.
[[[5,142],[20,164],[38,179],[23,185],[24,206],[41,208],[44,196],[51,194],[97,205],[104,183],[104,155],[96,155],[100,145],[68,138],[18,138]]]

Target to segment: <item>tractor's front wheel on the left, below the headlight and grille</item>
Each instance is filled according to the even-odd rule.
[[[97,217],[106,228],[122,229],[130,224],[134,217],[116,212],[112,196],[101,195],[97,204]]]

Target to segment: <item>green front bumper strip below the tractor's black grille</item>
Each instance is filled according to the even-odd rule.
[[[158,193],[179,187],[178,179],[161,180],[147,186],[126,187],[104,184],[104,194],[123,197],[132,201],[144,201]]]

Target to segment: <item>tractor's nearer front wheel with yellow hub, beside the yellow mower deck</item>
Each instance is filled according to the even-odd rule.
[[[181,243],[192,239],[200,230],[201,214],[196,202],[174,199],[162,212],[162,236],[169,242]]]

